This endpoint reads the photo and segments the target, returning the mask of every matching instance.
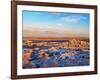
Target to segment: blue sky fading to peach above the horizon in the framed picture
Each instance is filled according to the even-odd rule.
[[[87,13],[23,11],[24,37],[88,37]]]

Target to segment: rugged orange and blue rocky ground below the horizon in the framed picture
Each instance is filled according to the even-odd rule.
[[[88,66],[89,50],[87,40],[24,40],[23,68]]]

